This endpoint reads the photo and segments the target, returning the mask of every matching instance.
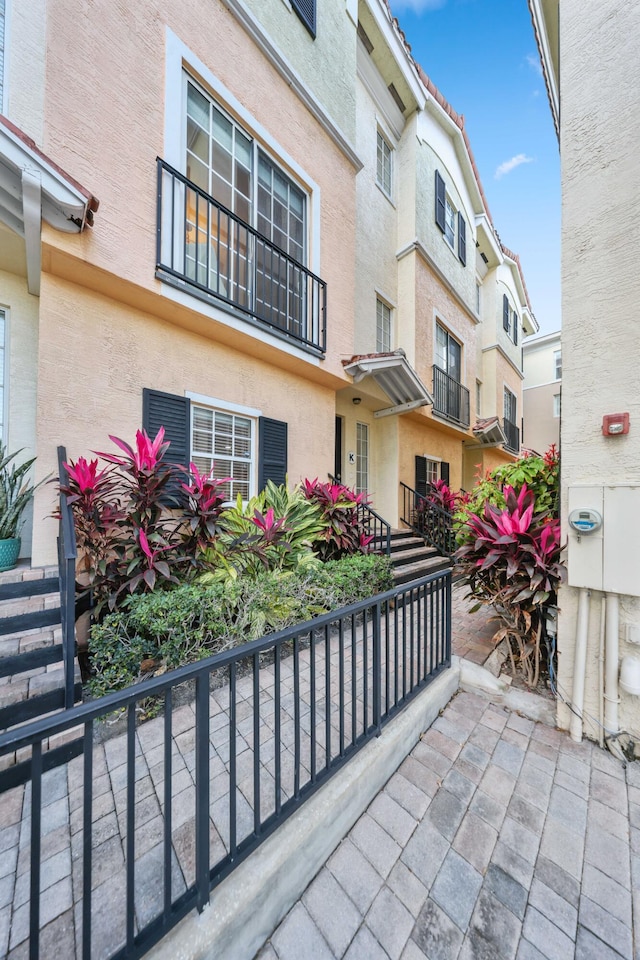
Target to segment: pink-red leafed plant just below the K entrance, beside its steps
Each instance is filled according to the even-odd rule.
[[[367,553],[373,537],[362,530],[358,504],[367,503],[366,493],[355,493],[342,483],[303,480],[302,492],[321,511],[324,530],[316,543],[321,560],[338,560],[354,553]]]

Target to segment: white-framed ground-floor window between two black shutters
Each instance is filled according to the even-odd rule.
[[[225,500],[248,500],[255,490],[256,433],[252,417],[191,404],[191,460],[201,473],[230,478]]]

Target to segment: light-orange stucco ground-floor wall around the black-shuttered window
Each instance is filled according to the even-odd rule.
[[[43,276],[38,475],[57,472],[58,444],[76,459],[110,449],[109,434],[132,442],[141,426],[143,387],[180,395],[193,391],[287,421],[291,484],[333,469],[332,390]],[[40,492],[36,516],[50,513],[52,495],[51,487]],[[54,528],[53,521],[38,524],[34,564],[53,562]]]

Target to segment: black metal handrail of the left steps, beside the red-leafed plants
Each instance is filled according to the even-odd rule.
[[[65,467],[67,451],[58,447],[58,477],[60,486],[67,486],[69,475]],[[60,520],[58,522],[58,571],[60,578],[60,620],[62,623],[62,661],[64,665],[64,706],[74,704],[76,657],[76,531],[73,512],[67,498],[60,493]]]

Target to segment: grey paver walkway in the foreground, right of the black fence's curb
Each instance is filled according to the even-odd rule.
[[[258,954],[343,957],[637,960],[640,763],[459,693]]]

